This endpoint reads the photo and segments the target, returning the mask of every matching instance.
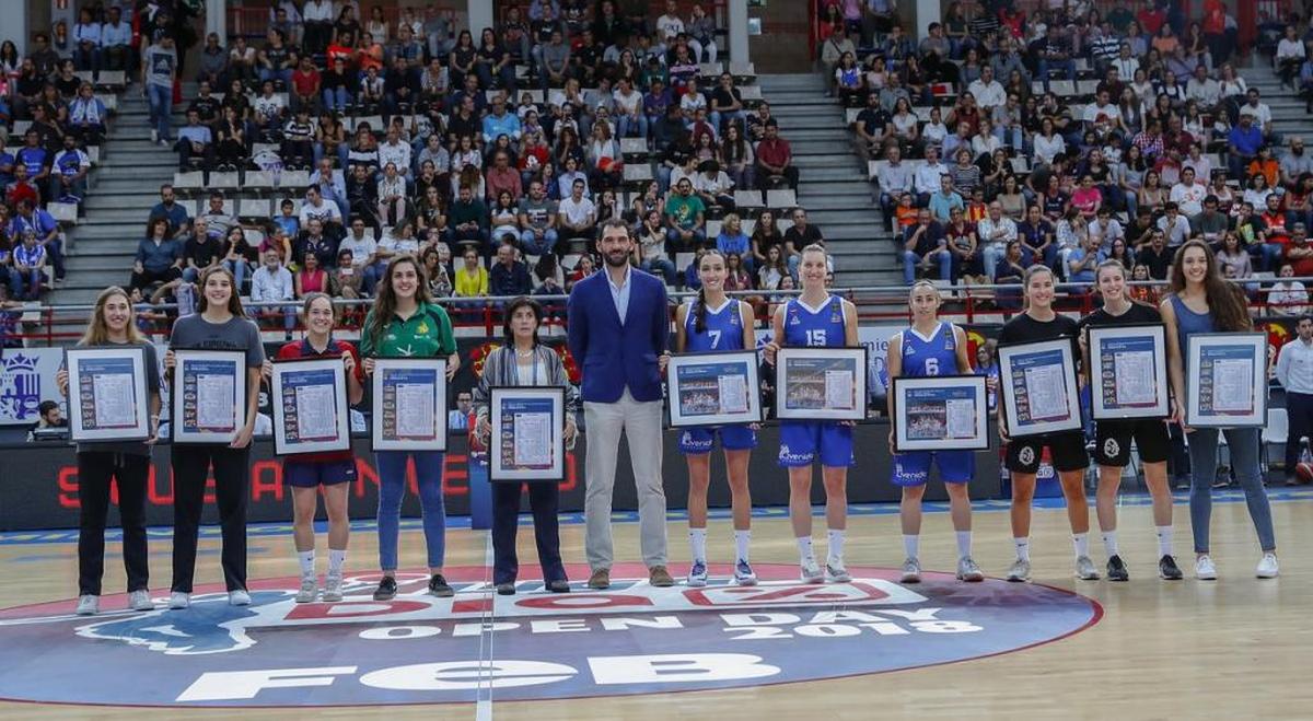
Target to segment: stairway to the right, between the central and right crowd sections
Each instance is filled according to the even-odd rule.
[[[798,205],[821,227],[834,255],[835,286],[902,285],[889,231],[872,198],[867,171],[844,126],[839,101],[819,74],[759,75],[762,96],[793,147]]]

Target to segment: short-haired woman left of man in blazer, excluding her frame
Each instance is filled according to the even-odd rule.
[[[524,295],[511,301],[502,326],[506,345],[496,348],[483,361],[483,374],[474,387],[475,433],[484,443],[492,437],[490,402],[496,386],[549,386],[566,391],[565,441],[572,444],[578,435],[574,414],[579,408],[579,390],[570,383],[561,356],[538,341],[542,306]],[[561,532],[557,510],[561,489],[555,481],[530,481],[529,507],[533,510],[533,540],[538,546],[542,583],[553,594],[570,592],[566,567],[561,562]],[[520,571],[515,536],[520,521],[519,481],[492,483],[492,583],[503,596],[515,595]]]

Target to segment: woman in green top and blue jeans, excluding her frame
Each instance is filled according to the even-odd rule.
[[[374,306],[365,317],[360,334],[360,355],[365,374],[374,374],[374,359],[445,357],[446,378],[461,365],[456,355],[452,319],[433,302],[424,271],[415,256],[393,257],[378,284]],[[378,423],[374,419],[374,423]],[[446,554],[446,510],[442,503],[441,450],[376,450],[378,468],[378,563],[383,578],[374,600],[397,596],[397,544],[400,536],[402,496],[406,494],[406,465],[415,462],[415,479],[424,513],[424,542],[428,550],[428,592],[449,598],[456,591],[442,577]]]

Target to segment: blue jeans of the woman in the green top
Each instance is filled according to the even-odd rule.
[[[446,510],[442,506],[441,450],[378,450],[378,567],[397,570],[397,542],[400,535],[402,498],[406,495],[406,461],[415,460],[419,503],[424,512],[424,545],[428,565],[440,567],[446,554]]]

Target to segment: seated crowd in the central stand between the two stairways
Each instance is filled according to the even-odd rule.
[[[700,3],[533,0],[479,41],[431,4],[270,12],[260,42],[206,38],[185,121],[152,131],[179,172],[137,253],[143,297],[214,264],[256,302],[369,297],[403,252],[439,295],[559,294],[612,217],[671,286],[718,247],[739,288],[769,290],[823,240],[751,64],[718,59]]]

